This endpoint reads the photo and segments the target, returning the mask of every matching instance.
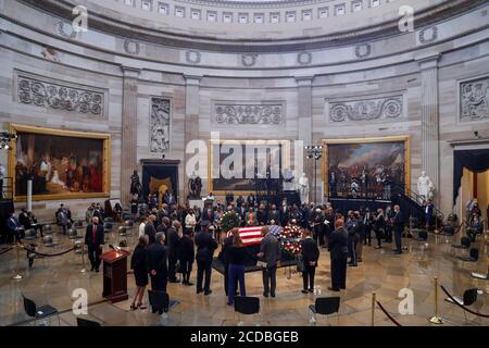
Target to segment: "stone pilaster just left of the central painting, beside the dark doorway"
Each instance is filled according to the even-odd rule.
[[[185,145],[184,149],[190,140],[199,139],[199,105],[200,105],[200,80],[202,76],[197,75],[185,75],[186,88],[185,88]],[[191,157],[191,154],[185,154],[184,161],[184,196],[188,195],[188,179],[185,165],[187,163],[187,159]],[[205,195],[206,192],[206,181],[202,177],[202,192],[201,195]]]

